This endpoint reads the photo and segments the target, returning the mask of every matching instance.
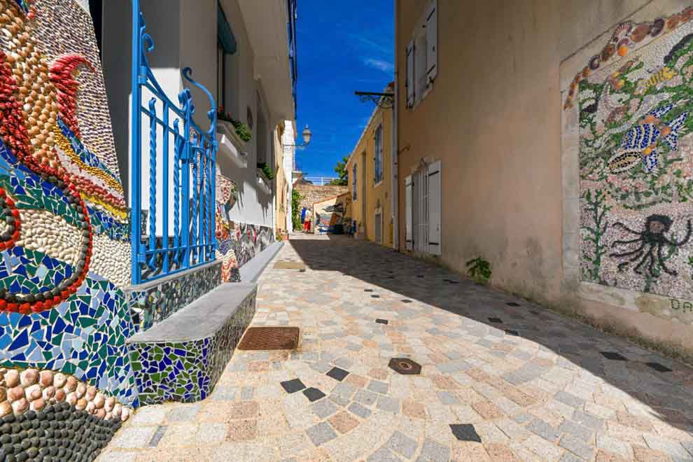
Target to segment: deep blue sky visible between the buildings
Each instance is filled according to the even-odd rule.
[[[297,142],[306,124],[313,139],[296,160],[306,175],[335,176],[374,109],[353,92],[393,80],[393,1],[299,0],[297,13]]]

